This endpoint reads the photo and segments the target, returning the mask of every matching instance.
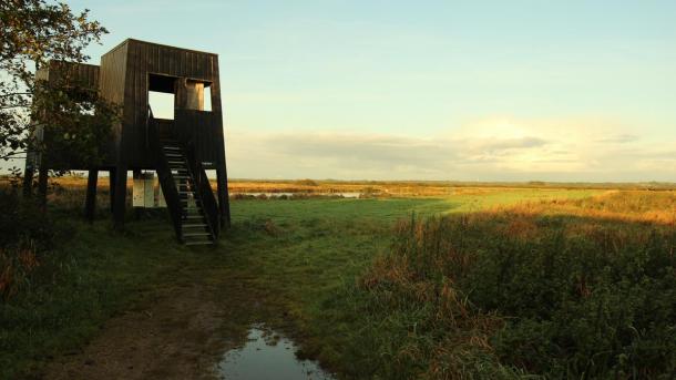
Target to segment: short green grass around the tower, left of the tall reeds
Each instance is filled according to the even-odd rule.
[[[378,326],[380,316],[357,314],[363,295],[348,304],[339,297],[354,290],[356,278],[387,251],[396,220],[413,213],[432,216],[594,194],[515,189],[445,198],[234,201],[233,228],[218,249],[178,246],[163,217],[130,220],[120,234],[105,216],[88,225],[72,209],[52,209],[72,234],[41,258],[29,286],[0,305],[1,376],[39,373],[51,358],[81,349],[111,317],[143,308],[173,287],[208,283],[227,298],[233,279],[257,289],[256,301],[274,306],[263,317],[299,339],[305,353],[341,373],[390,373],[354,359],[396,340],[383,335],[360,349],[349,345],[363,318]]]

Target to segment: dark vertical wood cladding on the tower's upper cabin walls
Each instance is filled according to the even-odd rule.
[[[69,80],[99,90],[104,99],[121,107],[121,120],[113,125],[112,141],[103,166],[123,163],[129,168],[153,168],[153,155],[147,142],[151,75],[168,79],[162,82],[161,90],[164,92],[170,91],[172,81],[176,84],[175,122],[172,130],[178,133],[181,138],[193,141],[197,157],[204,162],[215,164],[225,161],[216,54],[129,39],[105,53],[101,58],[101,66],[52,61],[35,75],[49,81],[68,75]],[[211,112],[185,109],[185,81],[205,83],[205,91],[211,91],[212,95]],[[82,166],[73,165],[69,167],[68,163],[59,163],[58,166]]]

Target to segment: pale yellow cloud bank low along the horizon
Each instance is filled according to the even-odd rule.
[[[600,121],[490,119],[428,137],[238,129],[228,130],[227,136],[228,171],[239,178],[676,178],[674,141],[644,142]]]

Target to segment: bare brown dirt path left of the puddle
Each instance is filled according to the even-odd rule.
[[[45,379],[213,379],[214,364],[244,332],[217,291],[173,289],[147,309],[107,321],[82,352],[55,359]],[[235,339],[234,339],[235,338]]]

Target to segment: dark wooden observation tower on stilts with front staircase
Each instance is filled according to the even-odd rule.
[[[85,213],[93,217],[98,175],[107,171],[113,218],[121,227],[127,172],[136,178],[142,171],[154,171],[178,240],[215,243],[221,229],[229,226],[218,57],[127,39],[105,53],[100,66],[51,62],[37,76],[51,80],[64,70],[119,105],[121,117],[113,125],[111,141],[104,144],[101,164],[50,157],[48,145],[45,154],[27,160],[27,176],[40,168],[40,186],[47,186],[47,170],[89,171]],[[150,92],[174,95],[173,119],[153,115]],[[211,110],[205,110],[205,92]],[[217,196],[206,170],[216,171]]]

